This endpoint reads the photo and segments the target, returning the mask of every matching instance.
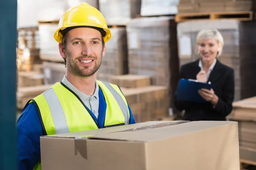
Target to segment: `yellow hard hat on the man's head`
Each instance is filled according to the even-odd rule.
[[[54,33],[54,39],[61,42],[64,32],[77,27],[96,28],[102,33],[104,42],[111,38],[111,31],[108,29],[104,16],[88,3],[79,3],[65,11],[58,23],[58,29]]]

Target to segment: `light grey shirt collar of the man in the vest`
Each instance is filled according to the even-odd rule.
[[[75,92],[82,100],[90,98],[90,96],[84,94],[83,92],[81,92],[78,88],[76,88],[74,85],[72,85],[68,80],[66,75],[64,75],[63,79],[61,80],[61,82],[66,85],[68,88],[70,88],[73,92]],[[95,83],[95,91],[94,94],[92,95],[94,96],[96,99],[99,100],[99,84],[96,80]]]

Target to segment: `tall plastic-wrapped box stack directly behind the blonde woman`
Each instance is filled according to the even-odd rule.
[[[202,29],[218,29],[224,38],[222,55],[218,58],[235,71],[235,101],[256,96],[256,22],[238,20],[202,20],[178,23],[178,46],[180,65],[195,61],[197,55],[196,36]]]

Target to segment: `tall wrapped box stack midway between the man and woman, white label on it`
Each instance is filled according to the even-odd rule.
[[[127,24],[129,74],[166,86],[171,103],[179,80],[176,26],[174,17],[142,17]]]

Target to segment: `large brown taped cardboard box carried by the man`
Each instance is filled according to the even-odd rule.
[[[42,170],[239,170],[237,122],[144,122],[40,140]]]

